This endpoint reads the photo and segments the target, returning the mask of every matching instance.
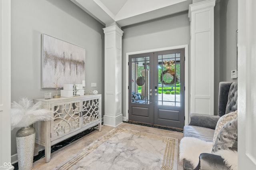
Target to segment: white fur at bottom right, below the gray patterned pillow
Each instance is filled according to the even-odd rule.
[[[214,154],[220,155],[230,170],[238,169],[238,153],[233,150],[218,150]]]

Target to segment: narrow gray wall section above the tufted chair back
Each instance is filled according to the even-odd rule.
[[[238,0],[220,1],[220,81],[231,79],[236,69],[236,30],[238,29]],[[239,32],[239,31],[238,31]]]

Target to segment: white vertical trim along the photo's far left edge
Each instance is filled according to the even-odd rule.
[[[11,2],[0,0],[0,169],[11,165]]]

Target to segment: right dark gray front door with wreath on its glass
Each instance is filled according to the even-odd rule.
[[[160,51],[155,56],[158,95],[154,98],[154,123],[157,125],[184,127],[184,52],[184,49]]]

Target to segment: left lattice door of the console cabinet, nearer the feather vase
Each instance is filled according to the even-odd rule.
[[[54,119],[51,123],[51,141],[81,128],[80,124],[81,100],[51,105]]]

